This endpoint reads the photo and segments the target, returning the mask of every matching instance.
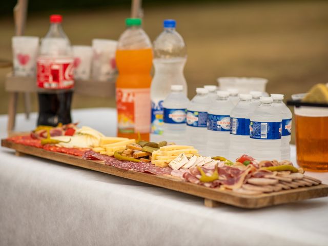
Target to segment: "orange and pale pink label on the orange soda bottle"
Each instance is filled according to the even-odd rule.
[[[119,133],[149,133],[150,89],[116,88]]]

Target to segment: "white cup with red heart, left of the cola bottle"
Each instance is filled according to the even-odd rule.
[[[23,77],[35,76],[39,38],[33,36],[13,36],[11,43],[14,75]]]

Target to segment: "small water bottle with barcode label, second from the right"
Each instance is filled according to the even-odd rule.
[[[281,160],[281,114],[271,97],[261,97],[251,113],[251,156],[258,160]]]

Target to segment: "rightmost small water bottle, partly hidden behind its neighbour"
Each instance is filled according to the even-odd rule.
[[[281,159],[291,159],[291,132],[292,132],[292,112],[283,103],[283,94],[271,94],[273,106],[281,112]]]

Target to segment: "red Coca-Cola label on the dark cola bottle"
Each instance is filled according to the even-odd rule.
[[[74,87],[73,57],[38,57],[37,86],[45,89]]]

